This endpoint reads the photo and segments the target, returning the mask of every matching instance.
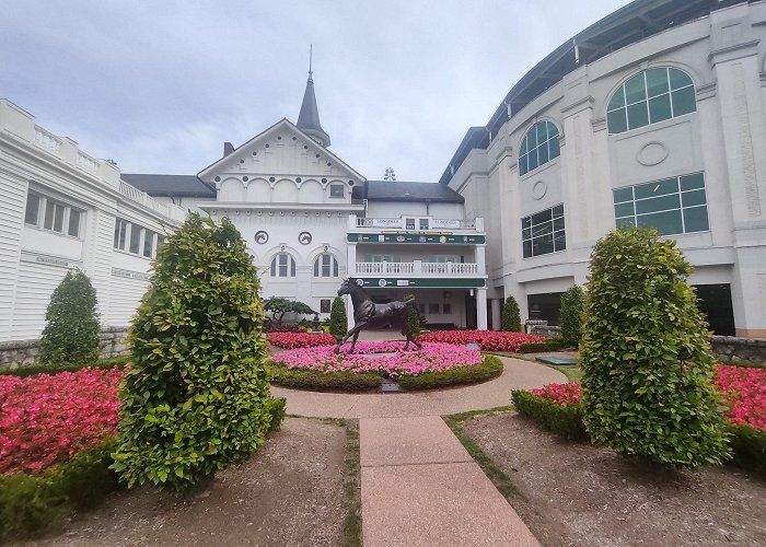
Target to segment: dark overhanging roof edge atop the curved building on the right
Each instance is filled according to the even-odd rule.
[[[524,74],[508,92],[489,118],[485,130],[488,139],[479,139],[465,147],[472,130],[463,139],[439,182],[448,184],[472,149],[486,149],[500,128],[524,106],[548,88],[558,83],[566,74],[578,67],[591,63],[623,47],[640,42],[696,19],[709,15],[711,11],[744,3],[748,0],[635,0],[601,21],[581,31],[559,47],[550,51],[532,70]],[[752,1],[752,0],[750,0]],[[574,45],[579,51],[579,62],[574,56]]]

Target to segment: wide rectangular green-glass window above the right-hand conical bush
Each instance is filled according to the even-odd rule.
[[[660,235],[710,229],[703,173],[617,188],[613,195],[617,228],[653,228]]]

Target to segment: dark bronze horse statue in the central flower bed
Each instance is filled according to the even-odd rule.
[[[402,334],[407,337],[407,344],[404,346],[404,350],[407,351],[409,348],[409,342],[411,341],[418,349],[422,349],[422,346],[417,341],[409,329],[407,328],[407,309],[409,306],[415,307],[415,299],[407,299],[404,302],[391,302],[388,304],[375,304],[372,302],[370,296],[367,295],[364,289],[357,284],[351,278],[344,279],[340,289],[338,289],[338,296],[344,294],[351,295],[351,302],[353,302],[353,328],[346,333],[346,336],[338,342],[335,347],[335,353],[340,351],[340,347],[346,344],[351,336],[351,349],[349,353],[353,353],[353,348],[357,345],[357,338],[359,333],[365,328],[384,327],[391,325],[393,328],[401,329]]]

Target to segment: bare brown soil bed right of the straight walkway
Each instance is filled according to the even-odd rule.
[[[543,545],[765,545],[766,484],[733,467],[641,465],[510,412],[462,422],[519,490]]]

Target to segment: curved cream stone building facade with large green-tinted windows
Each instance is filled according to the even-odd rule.
[[[634,8],[641,7],[624,11]],[[723,292],[710,304],[712,313],[726,313],[720,309],[730,293],[732,330],[766,336],[765,38],[766,3],[754,2],[636,40],[559,81],[546,80],[547,89],[522,97],[523,106],[489,133],[488,143],[453,159],[443,182],[465,197],[466,214],[486,218],[491,234],[490,298],[515,296],[522,318],[531,315],[530,303],[545,307],[547,295],[585,281],[594,243],[619,219],[662,226],[694,265],[689,281],[698,295]],[[569,55],[573,59],[576,51]],[[665,69],[670,84],[662,82]],[[547,78],[541,70],[522,81]],[[636,84],[642,81],[643,92]],[[623,100],[629,106],[619,106]],[[541,123],[552,125],[527,139]],[[553,127],[558,144],[537,148],[530,160],[527,149],[539,147]],[[660,183],[673,179],[669,188],[678,189],[661,198]],[[652,184],[640,186],[646,183]],[[542,233],[548,224],[544,214],[534,224],[534,216],[555,216],[556,206],[564,207],[566,248],[554,244],[548,252],[546,240],[535,255],[529,246],[534,235],[524,242],[530,232],[522,222],[530,219],[532,233],[535,226]],[[556,220],[552,225],[556,230]]]

